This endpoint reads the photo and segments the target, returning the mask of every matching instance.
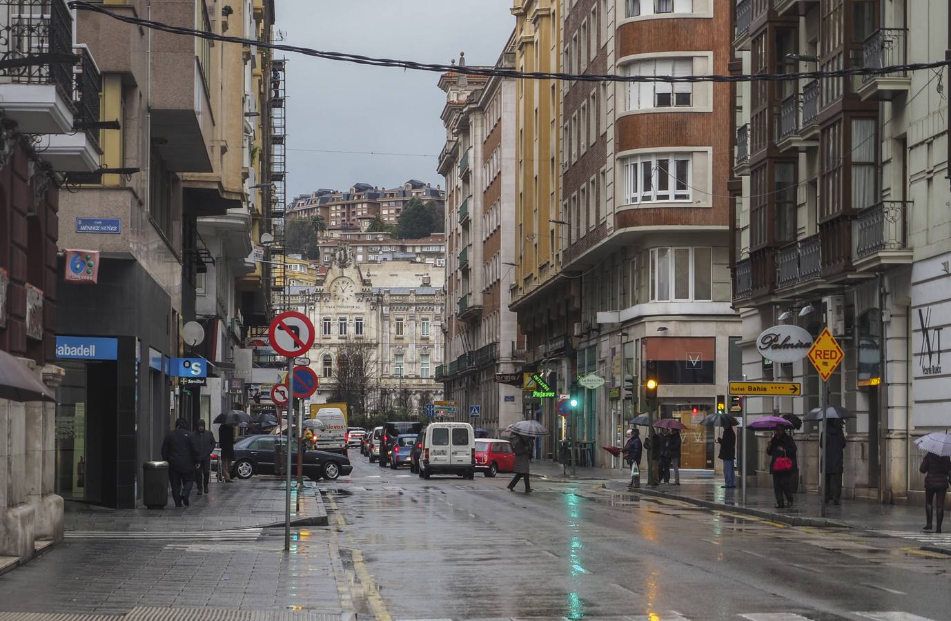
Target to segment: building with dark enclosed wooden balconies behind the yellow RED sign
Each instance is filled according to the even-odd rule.
[[[947,3],[735,3],[745,73],[883,68],[944,57]],[[751,414],[802,416],[823,383],[807,361],[773,365],[755,339],[777,323],[828,326],[845,359],[826,384],[847,408],[844,494],[922,502],[914,437],[947,426],[941,331],[951,321],[947,101],[939,73],[737,87],[730,193],[734,305],[747,378],[802,381],[804,398],[750,398]],[[946,345],[944,346],[946,352]],[[819,481],[818,428],[797,435]],[[761,440],[762,444],[763,440]],[[760,447],[762,452],[762,445]],[[765,469],[764,456],[752,464]]]

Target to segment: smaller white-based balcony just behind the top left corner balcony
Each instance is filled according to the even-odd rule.
[[[79,56],[72,70],[71,103],[76,110],[73,127],[78,131],[49,135],[49,146],[43,159],[53,170],[88,173],[99,169],[102,149],[99,146],[99,93],[103,78],[86,46],[77,46]]]

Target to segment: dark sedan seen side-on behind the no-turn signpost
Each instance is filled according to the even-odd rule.
[[[231,462],[231,475],[250,478],[253,475],[275,474],[274,449],[278,441],[278,436],[247,436],[235,442],[235,458]],[[282,441],[281,444],[283,443]],[[212,455],[213,460],[217,460],[218,453],[219,451],[216,450]],[[291,463],[293,464],[291,473],[296,474],[297,444],[294,442],[291,443]],[[349,475],[351,472],[353,472],[353,466],[345,455],[315,450],[305,450],[303,453],[303,474],[308,478],[334,480],[340,475]]]

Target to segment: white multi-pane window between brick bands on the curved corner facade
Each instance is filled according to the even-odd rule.
[[[626,204],[689,201],[689,184],[689,154],[645,154],[624,160]]]

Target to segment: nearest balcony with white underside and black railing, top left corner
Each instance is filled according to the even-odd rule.
[[[73,131],[72,16],[63,0],[0,0],[0,107],[27,134]]]

